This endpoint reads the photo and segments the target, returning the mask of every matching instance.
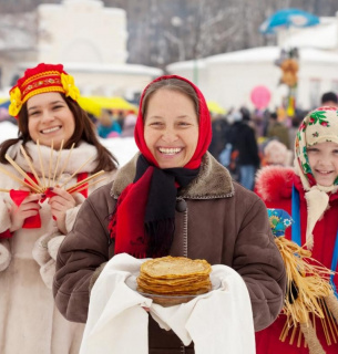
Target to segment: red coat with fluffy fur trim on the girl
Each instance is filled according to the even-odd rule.
[[[305,243],[305,232],[307,222],[307,206],[305,200],[305,191],[303,189],[300,178],[295,175],[291,168],[265,167],[259,171],[256,192],[262,197],[268,208],[280,208],[291,216],[291,189],[293,185],[299,191],[300,197],[300,228],[301,243]],[[329,209],[326,210],[324,217],[316,223],[314,229],[314,249],[313,258],[318,260],[327,268],[331,268],[331,260],[336,236],[338,230],[338,192],[330,196]],[[290,239],[291,228],[286,230],[286,238]],[[338,269],[336,269],[338,271]],[[338,289],[338,275],[334,279]],[[256,333],[257,354],[308,354],[309,350],[297,347],[297,337],[293,345],[279,341],[283,326],[285,324],[285,315],[279,315],[277,320],[266,330]],[[338,353],[338,343],[327,345],[321,325],[317,322],[317,336],[327,354]],[[290,332],[289,332],[290,333]],[[298,332],[297,332],[298,334]],[[332,339],[331,342],[334,343]]]

